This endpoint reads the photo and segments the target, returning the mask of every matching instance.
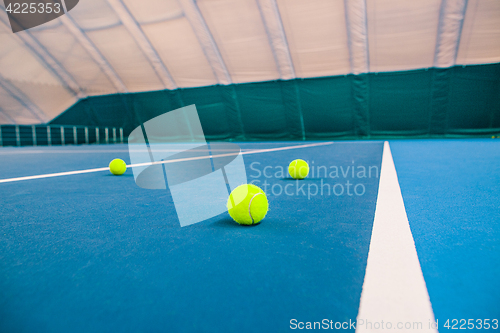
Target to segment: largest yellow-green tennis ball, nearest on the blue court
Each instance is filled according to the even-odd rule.
[[[252,184],[235,188],[227,199],[229,215],[239,224],[257,224],[266,216],[269,204],[264,191]]]

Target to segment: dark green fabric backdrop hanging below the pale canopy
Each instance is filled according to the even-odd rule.
[[[51,124],[123,127],[196,104],[209,140],[500,133],[500,64],[90,97]]]

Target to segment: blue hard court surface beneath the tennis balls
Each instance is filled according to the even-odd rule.
[[[127,146],[3,148],[1,178],[113,158],[128,164]],[[295,158],[312,167],[300,182],[286,174]],[[355,322],[362,293],[372,292],[363,289],[369,251],[385,241],[372,230],[387,161],[404,206],[390,196],[384,204],[406,212],[414,246],[403,246],[416,249],[428,292],[408,295],[430,300],[441,332],[447,319],[500,319],[500,140],[340,141],[244,160],[270,205],[250,227],[225,213],[181,228],[168,189],[139,188],[130,169],[0,182],[0,331],[285,332],[299,330],[292,320]],[[372,277],[392,281],[377,265]],[[394,279],[381,288],[403,286]]]

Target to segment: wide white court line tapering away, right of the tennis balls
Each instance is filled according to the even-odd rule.
[[[422,323],[421,329],[397,327],[417,322]],[[356,332],[436,333],[430,323],[434,323],[434,313],[386,141]]]

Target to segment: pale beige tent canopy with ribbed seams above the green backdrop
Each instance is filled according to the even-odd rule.
[[[16,34],[0,8],[0,124],[94,95],[500,62],[498,0],[80,0]]]

